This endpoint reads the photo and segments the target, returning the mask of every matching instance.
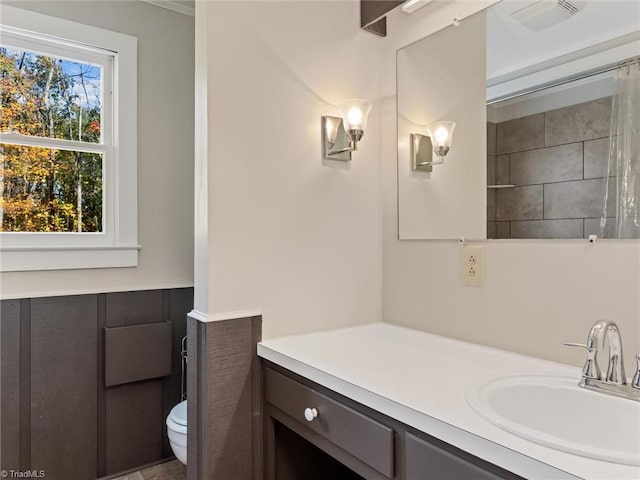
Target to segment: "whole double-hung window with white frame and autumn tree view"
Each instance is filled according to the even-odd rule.
[[[0,13],[0,269],[137,265],[136,39]]]

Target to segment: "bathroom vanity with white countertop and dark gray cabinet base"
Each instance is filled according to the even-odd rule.
[[[387,324],[267,340],[258,354],[267,479],[640,478],[508,433],[468,401],[500,377],[577,384],[578,368]]]

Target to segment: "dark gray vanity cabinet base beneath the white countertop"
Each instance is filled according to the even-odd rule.
[[[264,421],[267,480],[521,478],[267,361]]]

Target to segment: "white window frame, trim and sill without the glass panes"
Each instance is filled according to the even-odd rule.
[[[0,232],[0,271],[137,266],[137,39],[0,5],[0,43],[103,68],[100,143],[0,133],[2,143],[102,154],[102,232]]]

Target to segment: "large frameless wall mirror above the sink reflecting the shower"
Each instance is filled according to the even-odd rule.
[[[503,0],[400,49],[399,238],[640,238],[639,54],[635,1]]]

